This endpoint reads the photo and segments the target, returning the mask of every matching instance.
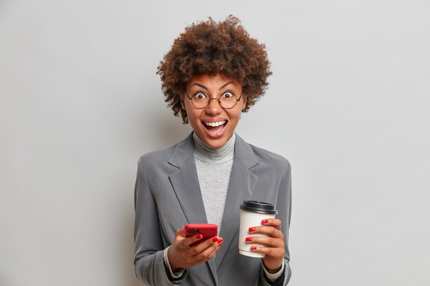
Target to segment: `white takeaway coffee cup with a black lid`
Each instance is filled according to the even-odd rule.
[[[247,237],[267,237],[261,233],[249,233],[251,226],[261,226],[263,219],[273,219],[278,214],[273,204],[244,200],[240,205],[239,253],[247,257],[264,257],[263,253],[251,251],[251,246],[262,246],[258,243],[247,243]]]

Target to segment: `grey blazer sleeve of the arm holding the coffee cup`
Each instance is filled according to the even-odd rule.
[[[286,159],[285,159],[286,160]],[[291,222],[291,165],[286,160],[286,173],[282,182],[280,183],[280,189],[278,190],[278,199],[276,202],[278,208],[277,218],[281,220],[282,226],[281,231],[284,234],[284,273],[275,281],[271,282],[264,274],[264,270],[261,267],[260,270],[260,283],[264,286],[286,286],[291,278],[290,268],[290,250],[288,249],[288,230]]]

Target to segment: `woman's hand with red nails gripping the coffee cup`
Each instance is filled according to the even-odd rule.
[[[267,237],[247,237],[247,243],[259,243],[266,247],[251,246],[251,251],[266,254],[263,258],[264,265],[269,273],[281,270],[284,261],[284,234],[281,231],[280,219],[263,219],[262,226],[249,228],[249,234],[262,233]]]

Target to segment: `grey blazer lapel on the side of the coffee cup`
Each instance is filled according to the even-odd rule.
[[[238,235],[240,222],[239,206],[243,200],[249,200],[253,193],[258,177],[249,169],[258,165],[258,160],[249,146],[240,136],[236,134],[234,147],[234,161],[231,168],[231,176],[227,199],[223,213],[220,237],[223,237],[223,246],[216,252],[216,268],[223,262],[225,254],[231,245],[235,235]],[[238,246],[232,251],[238,251]]]

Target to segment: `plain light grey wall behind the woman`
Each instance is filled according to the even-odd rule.
[[[1,0],[1,286],[141,285],[137,159],[191,130],[157,65],[229,14],[272,63],[236,131],[291,162],[289,285],[430,285],[429,1]]]

